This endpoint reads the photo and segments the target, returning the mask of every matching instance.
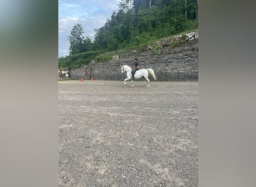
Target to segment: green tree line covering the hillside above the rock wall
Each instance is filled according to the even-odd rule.
[[[94,40],[83,37],[82,25],[73,26],[68,38],[70,54],[59,58],[59,66],[79,67],[100,52],[137,46],[195,28],[198,0],[122,0],[105,25],[95,30]],[[76,62],[72,56],[76,56]],[[78,61],[80,56],[83,60]]]

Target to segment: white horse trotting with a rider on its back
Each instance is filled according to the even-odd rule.
[[[134,85],[133,85],[133,80],[132,80],[132,68],[127,66],[127,65],[124,65],[124,66],[121,65],[121,72],[122,73],[124,73],[124,72],[127,73],[127,79],[124,79],[124,85],[127,85],[127,81],[131,79],[132,87],[133,87]],[[156,81],[155,73],[154,73],[153,69],[151,69],[151,68],[137,70],[134,74],[134,78],[135,79],[140,79],[143,76],[144,79],[147,80],[147,87],[148,87],[150,85],[149,84],[150,79],[148,79],[148,73],[150,73],[150,75],[153,76],[153,79]],[[144,81],[144,85],[145,85],[145,81]]]

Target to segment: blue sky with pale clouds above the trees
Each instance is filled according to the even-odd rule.
[[[58,57],[69,53],[67,38],[76,24],[82,25],[84,37],[94,38],[121,0],[58,0]]]

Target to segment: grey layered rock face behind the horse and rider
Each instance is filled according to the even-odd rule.
[[[133,65],[133,59],[138,58],[141,68],[152,68],[159,81],[198,81],[198,39],[180,43],[180,46],[162,46],[153,52],[152,49],[131,52],[126,58],[121,58],[85,65],[71,69],[71,79],[94,80],[124,80],[120,65]],[[149,77],[153,80],[152,77]]]

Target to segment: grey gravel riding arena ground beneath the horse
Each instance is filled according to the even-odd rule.
[[[198,82],[58,90],[59,186],[198,186]]]

